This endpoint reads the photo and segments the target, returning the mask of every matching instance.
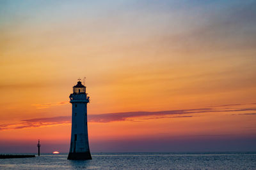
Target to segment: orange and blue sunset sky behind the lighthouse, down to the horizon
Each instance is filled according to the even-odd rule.
[[[0,1],[0,152],[256,151],[255,1]]]

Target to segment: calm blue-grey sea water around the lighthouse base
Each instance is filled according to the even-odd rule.
[[[256,152],[93,153],[92,160],[67,154],[0,159],[0,169],[256,169]]]

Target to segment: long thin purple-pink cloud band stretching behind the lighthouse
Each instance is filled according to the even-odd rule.
[[[225,104],[221,106],[239,106],[241,104]],[[165,110],[165,111],[133,111],[120,113],[102,113],[99,115],[88,115],[89,122],[108,123],[131,121],[141,122],[150,119],[159,118],[191,118],[195,114],[204,113],[237,113],[232,115],[256,115],[256,113],[243,113],[243,111],[256,111],[255,107],[250,108],[220,108],[220,106],[209,108],[197,108],[188,110]],[[141,117],[141,118],[140,118]],[[145,118],[146,117],[146,118]],[[71,117],[47,117],[47,118],[31,118],[20,120],[19,124],[2,124],[0,131],[8,129],[24,129],[31,127],[44,127],[48,125],[70,124]]]

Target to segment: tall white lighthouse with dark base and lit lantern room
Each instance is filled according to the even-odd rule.
[[[86,87],[80,80],[73,87],[73,93],[70,94],[69,98],[70,103],[72,103],[72,132],[68,159],[92,159],[87,128],[87,103],[89,103],[89,97],[86,94]]]

